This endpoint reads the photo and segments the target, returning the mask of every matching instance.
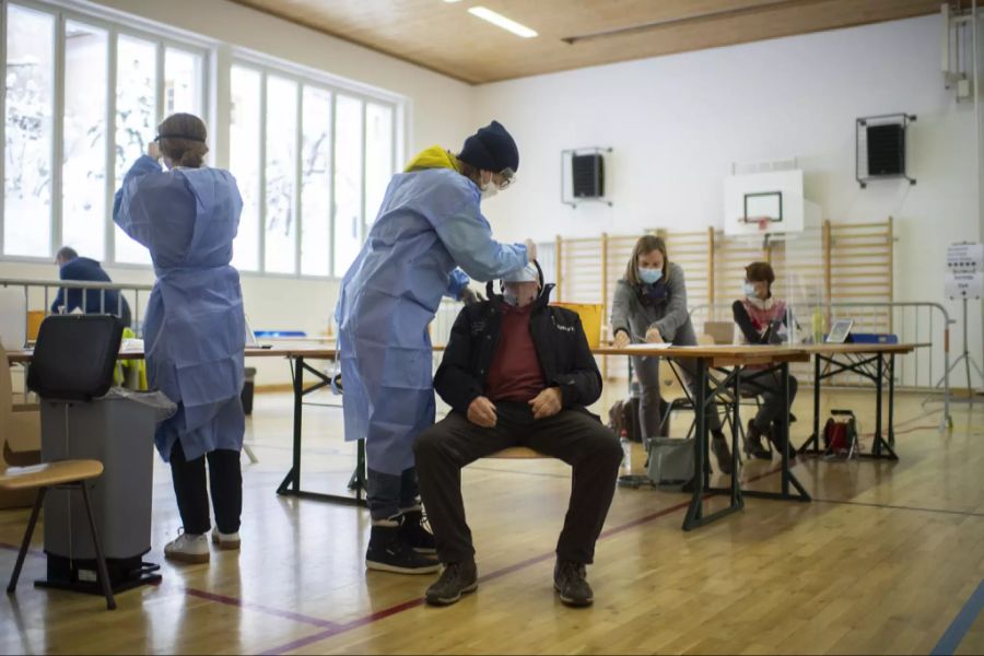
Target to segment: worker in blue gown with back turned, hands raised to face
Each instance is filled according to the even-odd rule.
[[[113,206],[116,224],[150,249],[157,276],[143,327],[148,379],[178,405],[154,437],[171,461],[184,523],[164,555],[194,563],[209,560],[206,459],[212,541],[239,547],[246,424],[239,400],[246,325],[239,274],[230,266],[243,199],[232,174],[203,165],[206,136],[197,116],[167,117]],[[161,155],[168,171],[161,169]]]

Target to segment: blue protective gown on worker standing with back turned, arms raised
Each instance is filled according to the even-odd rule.
[[[148,382],[178,403],[157,424],[164,460],[175,440],[188,460],[243,446],[246,319],[230,266],[243,199],[219,168],[163,172],[142,156],[116,192],[113,220],[150,249],[157,274],[143,338]]]

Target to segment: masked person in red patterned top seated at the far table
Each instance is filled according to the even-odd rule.
[[[772,296],[775,273],[769,262],[752,262],[745,268],[745,298],[735,301],[731,311],[735,323],[741,330],[747,344],[777,344],[787,335],[786,304]],[[789,402],[783,405],[782,377],[777,371],[765,372],[761,367],[746,367],[741,372],[740,389],[762,399],[754,419],[748,422],[745,450],[748,455],[763,460],[771,459],[769,450],[762,446],[762,435],[766,435],[776,448],[782,449],[778,435],[783,422],[788,421],[793,399],[796,398],[797,382],[789,376]],[[782,452],[780,452],[782,453]],[[796,449],[789,449],[789,457]]]

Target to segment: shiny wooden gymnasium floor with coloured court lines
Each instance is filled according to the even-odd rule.
[[[622,389],[609,386],[606,401]],[[809,431],[804,393],[797,442]],[[0,653],[984,653],[984,402],[973,413],[956,406],[941,434],[941,405],[923,401],[899,395],[898,464],[799,461],[809,504],[748,500],[687,534],[683,494],[618,490],[588,571],[596,602],[584,610],[562,606],[551,585],[569,469],[477,462],[464,478],[480,587],[435,609],[421,602],[433,576],[365,572],[364,511],[273,493],[290,460],[291,401],[259,396],[242,552],[213,551],[210,565],[164,561],[180,523],[159,462],[147,559],[163,563],[164,582],[119,595],[115,612],[96,597],[37,590],[36,539],[16,594],[0,598]],[[823,406],[854,408],[862,432],[872,429],[869,394],[825,393]],[[340,415],[305,411],[305,488],[344,487],[353,448]],[[675,433],[689,421],[678,415]],[[629,468],[643,461],[633,447]],[[750,462],[742,477],[775,489],[773,470]],[[0,512],[4,583],[26,518]]]

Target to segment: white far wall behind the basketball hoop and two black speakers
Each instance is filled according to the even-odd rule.
[[[733,162],[795,156],[824,218],[895,218],[897,300],[940,301],[946,246],[977,238],[977,201],[973,107],[944,89],[939,36],[939,19],[926,16],[482,85],[476,122],[497,118],[520,152],[517,184],[487,213],[511,239],[719,226]],[[918,116],[909,147],[918,184],[862,190],[854,121],[898,112]],[[614,207],[574,210],[560,202],[560,152],[591,145],[614,149]]]

